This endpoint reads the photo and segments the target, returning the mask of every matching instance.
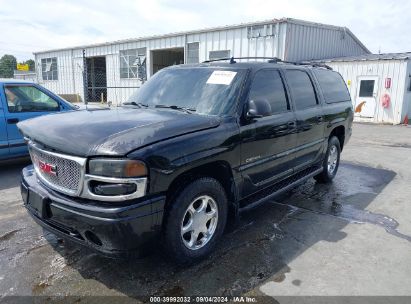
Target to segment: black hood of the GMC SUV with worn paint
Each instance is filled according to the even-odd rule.
[[[217,127],[219,118],[168,109],[117,108],[40,116],[18,123],[24,136],[76,156],[126,155],[167,138]]]

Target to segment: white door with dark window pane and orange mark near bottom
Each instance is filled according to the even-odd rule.
[[[378,76],[358,77],[355,115],[373,118],[377,107]]]

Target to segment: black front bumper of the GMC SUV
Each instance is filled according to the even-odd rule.
[[[23,169],[21,194],[33,219],[54,234],[110,257],[127,257],[155,244],[164,196],[119,203],[85,201],[41,184],[33,166]]]

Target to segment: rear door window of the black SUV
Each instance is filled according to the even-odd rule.
[[[317,96],[308,74],[300,70],[287,70],[285,74],[297,110],[315,107]]]

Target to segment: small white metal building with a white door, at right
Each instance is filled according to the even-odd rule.
[[[355,120],[400,124],[411,116],[411,53],[321,60],[346,81]]]

